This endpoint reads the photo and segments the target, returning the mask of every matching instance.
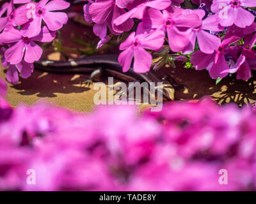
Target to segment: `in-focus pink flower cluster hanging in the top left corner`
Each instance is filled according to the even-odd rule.
[[[21,4],[16,6],[16,4]],[[11,0],[0,10],[0,44],[2,64],[8,67],[6,78],[19,82],[18,71],[23,78],[33,72],[33,62],[42,56],[42,48],[36,42],[49,42],[56,31],[67,23],[66,13],[55,12],[68,8],[64,0]],[[42,21],[44,20],[44,26]]]

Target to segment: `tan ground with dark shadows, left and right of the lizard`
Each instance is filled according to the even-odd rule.
[[[1,77],[4,77],[1,69]],[[206,71],[184,69],[178,67],[172,73],[179,84],[185,88],[175,92],[175,99],[200,99],[203,96],[212,96],[218,103],[235,102],[238,105],[254,103],[256,79],[249,82],[234,80],[227,77],[220,84],[215,85]],[[20,79],[19,84],[8,84],[7,99],[12,106],[20,103],[32,105],[40,99],[52,101],[56,105],[71,108],[77,111],[89,112],[93,108],[93,86],[81,85],[88,76],[56,75],[35,71],[32,77]]]

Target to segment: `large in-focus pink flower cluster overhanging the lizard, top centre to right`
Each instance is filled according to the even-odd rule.
[[[180,8],[183,0],[114,1],[96,0],[84,5],[84,18],[94,33],[107,43],[109,32],[120,35],[132,31],[120,45],[123,71],[132,64],[138,73],[149,71],[152,54],[168,43],[172,52],[191,54],[197,70],[207,69],[211,78],[237,72],[237,79],[248,80],[256,69],[254,0],[193,0],[196,10]],[[211,10],[210,10],[211,9]],[[251,13],[252,11],[252,13]],[[254,12],[254,15],[253,15]],[[134,19],[140,22],[134,32]],[[227,30],[227,34],[225,31]],[[166,41],[167,36],[167,41]],[[108,39],[108,40],[106,40]],[[232,45],[232,46],[230,46]]]

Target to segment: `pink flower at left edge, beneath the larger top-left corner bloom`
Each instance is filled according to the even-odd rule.
[[[8,31],[1,33],[0,41],[8,44],[12,43],[10,48],[4,53],[6,61],[10,62],[10,64],[19,64],[23,57],[24,61],[33,63],[40,59],[43,52],[42,48],[36,45],[35,41],[49,42],[52,41],[55,36],[55,32],[49,31],[46,26],[42,28],[38,36],[33,38],[22,35],[18,29],[10,28]]]

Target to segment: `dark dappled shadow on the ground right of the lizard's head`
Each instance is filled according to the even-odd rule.
[[[185,69],[182,64],[177,68],[163,68],[163,73],[170,74],[178,84],[184,85],[175,93],[177,100],[200,99],[211,96],[219,104],[234,102],[239,106],[256,101],[256,72],[248,81],[236,80],[236,75],[228,76],[216,85],[216,80],[209,77],[205,70]]]

